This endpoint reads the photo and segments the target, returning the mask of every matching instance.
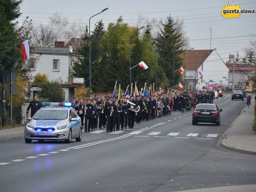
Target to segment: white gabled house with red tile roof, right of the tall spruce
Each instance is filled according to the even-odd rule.
[[[184,82],[192,88],[197,83],[216,82],[225,86],[229,69],[214,50],[186,50],[184,52]],[[199,72],[202,71],[202,75]]]

